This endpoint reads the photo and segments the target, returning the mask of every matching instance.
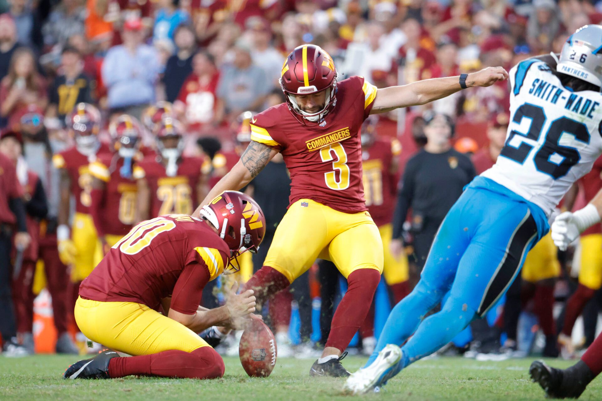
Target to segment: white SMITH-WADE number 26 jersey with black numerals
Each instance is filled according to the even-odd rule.
[[[602,94],[563,87],[539,60],[522,61],[510,70],[510,90],[506,145],[481,176],[549,216],[602,153]]]

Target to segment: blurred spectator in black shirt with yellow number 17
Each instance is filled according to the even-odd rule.
[[[49,91],[46,115],[57,117],[61,124],[77,103],[92,103],[93,84],[82,72],[84,63],[75,47],[64,47],[61,52],[60,75],[54,79]]]

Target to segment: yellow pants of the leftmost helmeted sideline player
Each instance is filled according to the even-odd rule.
[[[75,213],[71,239],[77,250],[75,263],[71,266],[71,280],[77,283],[88,277],[102,260],[101,242],[98,240],[92,216]]]

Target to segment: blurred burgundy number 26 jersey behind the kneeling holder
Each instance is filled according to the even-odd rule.
[[[191,215],[199,203],[197,185],[203,176],[204,160],[182,156],[178,172],[168,177],[157,156],[150,156],[134,166],[134,179],[146,179],[151,189],[151,216],[178,213]]]

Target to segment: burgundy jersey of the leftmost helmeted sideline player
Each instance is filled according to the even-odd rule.
[[[96,155],[85,156],[78,152],[75,146],[52,156],[52,164],[56,168],[64,168],[71,179],[71,193],[75,196],[75,211],[78,213],[90,213],[88,210],[92,204],[92,176],[90,175],[90,163],[101,155],[110,155],[107,144],[102,143]]]

